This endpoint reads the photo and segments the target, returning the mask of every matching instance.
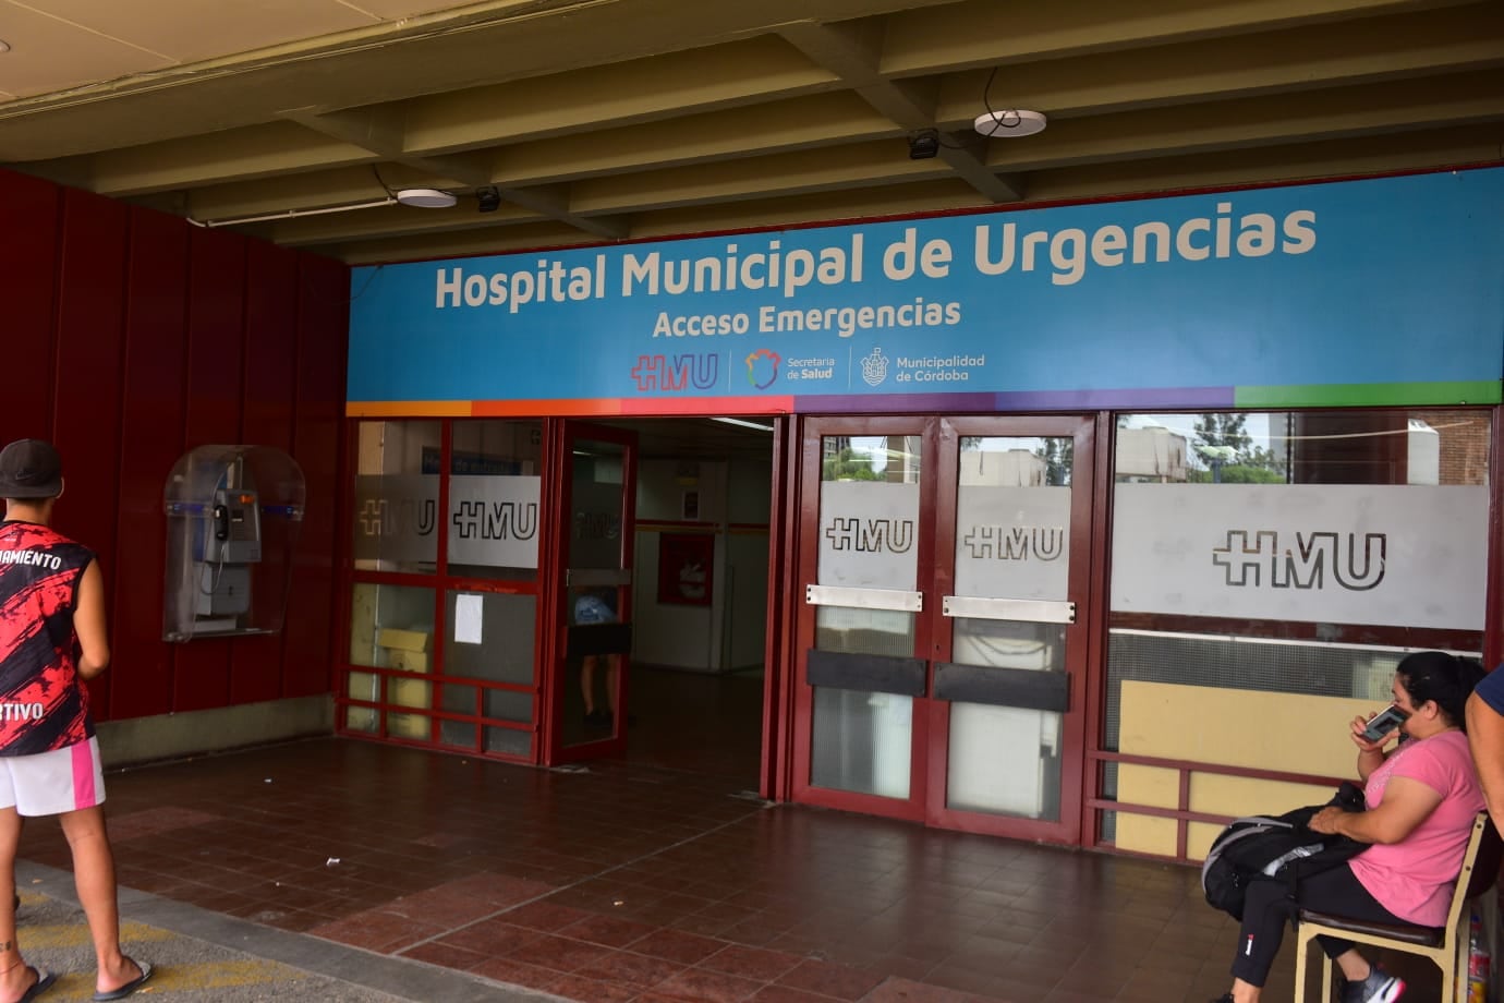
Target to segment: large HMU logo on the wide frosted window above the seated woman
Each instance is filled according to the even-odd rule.
[[[1227,574],[1233,588],[1259,588],[1268,568],[1269,588],[1327,588],[1327,576],[1339,588],[1366,592],[1384,580],[1388,534],[1296,532],[1295,547],[1280,549],[1272,529],[1229,529],[1227,544],[1212,547],[1212,564]],[[1253,546],[1248,538],[1253,537]]]

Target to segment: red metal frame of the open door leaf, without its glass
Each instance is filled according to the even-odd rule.
[[[550,534],[550,549],[544,567],[543,603],[546,630],[541,657],[544,659],[543,689],[546,695],[543,707],[543,765],[561,765],[566,762],[581,762],[587,759],[602,759],[623,756],[627,750],[627,701],[629,681],[632,678],[632,660],[621,657],[620,689],[617,696],[617,720],[612,722],[614,732],[609,737],[582,741],[566,746],[562,726],[566,687],[575,683],[575,674],[566,660],[569,638],[569,555],[572,543],[573,517],[573,465],[575,445],[578,442],[612,442],[623,448],[621,462],[621,567],[632,570],[636,543],[636,504],[638,504],[638,436],[635,432],[596,426],[575,420],[553,420],[549,423],[555,435],[544,438],[552,448],[547,469],[556,490],[556,507],[552,511],[553,532]],[[632,623],[632,586],[621,589],[617,615],[621,623]]]

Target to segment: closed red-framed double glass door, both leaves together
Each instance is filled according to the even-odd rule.
[[[809,420],[802,447],[796,798],[1078,841],[1090,420]]]

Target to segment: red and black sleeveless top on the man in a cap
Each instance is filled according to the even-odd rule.
[[[47,526],[0,522],[0,756],[93,737],[74,609],[93,552]]]

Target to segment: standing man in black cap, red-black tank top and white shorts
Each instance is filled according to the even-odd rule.
[[[51,528],[63,463],[50,444],[0,450],[0,1001],[32,1000],[54,980],[21,959],[15,853],[23,817],[57,815],[74,854],[78,901],[99,971],[95,1000],[122,1000],[152,968],[120,953],[104,774],[84,681],[110,665],[104,576],[83,544]],[[11,892],[9,895],[6,892]],[[12,908],[6,908],[11,905]]]

